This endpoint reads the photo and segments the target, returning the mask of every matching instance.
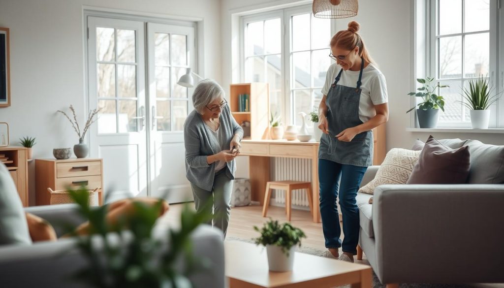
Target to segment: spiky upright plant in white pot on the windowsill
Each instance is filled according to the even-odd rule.
[[[488,129],[490,119],[490,105],[495,103],[500,95],[490,96],[493,87],[488,86],[488,79],[480,76],[469,80],[469,89],[462,88],[462,97],[465,101],[457,101],[469,108],[471,113],[471,126],[473,129]]]

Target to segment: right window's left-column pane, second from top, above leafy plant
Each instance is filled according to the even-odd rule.
[[[461,78],[462,36],[439,39],[440,78]]]

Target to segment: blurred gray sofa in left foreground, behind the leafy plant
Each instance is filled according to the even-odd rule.
[[[76,205],[51,205],[25,208],[27,212],[48,220],[61,235],[61,220],[80,224]],[[164,237],[168,227],[158,224],[156,237]],[[193,287],[224,287],[224,244],[218,229],[201,225],[192,236],[194,255],[206,257],[211,269],[200,271],[190,279]],[[0,279],[2,287],[87,287],[70,279],[86,260],[73,248],[75,240],[39,242],[33,245],[0,246]],[[169,245],[169,244],[167,244]]]

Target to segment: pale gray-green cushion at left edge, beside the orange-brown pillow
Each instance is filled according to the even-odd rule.
[[[0,192],[0,245],[31,244],[21,199],[3,163],[0,163]]]

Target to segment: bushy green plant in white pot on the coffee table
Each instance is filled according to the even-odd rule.
[[[288,222],[280,224],[271,218],[261,229],[257,226],[254,226],[254,229],[261,233],[261,236],[253,240],[256,245],[266,246],[270,270],[291,271],[294,250],[296,246],[301,246],[301,239],[306,238],[304,232]]]

